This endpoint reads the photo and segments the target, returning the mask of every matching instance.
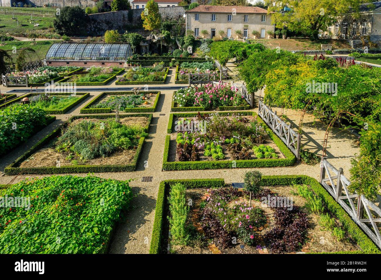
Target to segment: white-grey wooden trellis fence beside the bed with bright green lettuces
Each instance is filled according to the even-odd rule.
[[[263,121],[274,131],[277,136],[287,145],[287,147],[295,154],[296,159],[300,160],[300,145],[302,135],[290,128],[290,125],[283,122],[277,116],[277,112],[273,112],[267,107],[263,101],[259,100],[258,115]]]

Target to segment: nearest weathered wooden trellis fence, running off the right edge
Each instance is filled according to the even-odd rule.
[[[320,184],[381,249],[380,207],[363,195],[349,192],[351,182],[344,177],[343,168],[337,170],[327,161],[327,157],[323,157],[320,164]]]

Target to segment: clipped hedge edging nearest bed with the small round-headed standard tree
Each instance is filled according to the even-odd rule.
[[[202,182],[209,183],[208,186],[204,186]],[[219,181],[220,180],[220,181]],[[187,181],[192,181],[189,183]],[[208,182],[209,181],[209,182]],[[191,179],[191,180],[166,180],[160,182],[159,191],[155,208],[154,227],[152,229],[152,238],[150,243],[150,254],[159,254],[161,250],[161,241],[163,235],[163,221],[166,219],[166,213],[164,213],[164,206],[166,204],[165,192],[166,188],[172,184],[182,183],[187,188],[189,185],[196,187],[223,187],[223,179]],[[324,189],[324,187],[314,178],[306,175],[273,175],[262,176],[261,186],[290,186],[293,184],[306,184],[315,192],[320,195],[328,210],[334,214],[339,221],[343,224],[344,229],[351,235],[357,242],[357,245],[363,251],[339,251],[339,252],[323,252],[323,253],[309,253],[309,254],[363,254],[363,253],[381,253],[379,248],[371,241],[371,239],[360,229],[346,211],[331,197],[331,195]]]

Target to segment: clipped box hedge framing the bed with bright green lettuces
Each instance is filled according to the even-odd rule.
[[[235,112],[224,112],[221,116],[232,115]],[[246,114],[245,114],[246,113]],[[275,135],[275,133],[258,117],[254,112],[239,112],[240,115],[253,115],[258,122],[264,125],[264,129],[270,136],[275,145],[279,148],[280,152],[286,158],[257,158],[253,160],[208,160],[208,161],[189,161],[189,162],[168,162],[170,135],[165,137],[164,143],[164,156],[163,156],[163,170],[204,170],[204,169],[220,169],[220,168],[258,168],[258,167],[275,167],[275,166],[290,166],[295,163],[296,157],[290,149],[283,143],[283,141]],[[169,129],[172,131],[173,115],[170,116],[167,132]],[[195,117],[195,113],[176,114],[176,117]],[[170,126],[171,125],[171,126]],[[232,162],[235,162],[236,167],[232,167]]]

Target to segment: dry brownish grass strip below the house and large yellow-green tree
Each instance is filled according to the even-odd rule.
[[[321,39],[318,41],[312,41],[309,38],[303,39],[251,39],[250,42],[261,43],[264,46],[275,49],[279,47],[282,50],[287,51],[298,51],[298,50],[320,50],[321,44],[333,44],[333,49],[347,49],[351,46],[345,40],[334,40],[334,39]]]

